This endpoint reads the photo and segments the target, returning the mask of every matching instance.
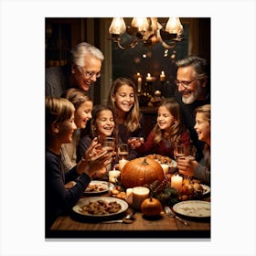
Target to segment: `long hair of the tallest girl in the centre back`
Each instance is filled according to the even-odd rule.
[[[136,129],[140,128],[140,109],[139,109],[139,100],[138,100],[138,95],[136,93],[135,85],[132,80],[126,79],[126,78],[118,78],[113,81],[112,83],[112,88],[109,94],[109,99],[108,99],[108,106],[112,109],[112,112],[114,115],[116,115],[117,112],[117,106],[115,101],[112,101],[112,96],[118,91],[118,89],[123,86],[123,85],[128,85],[133,88],[134,92],[134,104],[133,108],[127,112],[124,125],[127,127],[129,132],[133,132]]]

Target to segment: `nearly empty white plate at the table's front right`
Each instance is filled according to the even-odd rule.
[[[210,217],[210,202],[199,200],[182,201],[174,205],[176,213],[187,217]]]

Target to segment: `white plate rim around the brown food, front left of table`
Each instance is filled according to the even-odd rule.
[[[103,201],[106,201],[107,203],[117,202],[118,204],[120,204],[121,209],[117,212],[108,213],[108,214],[104,214],[104,215],[87,214],[87,213],[83,213],[80,211],[81,207],[88,205],[90,202],[95,202],[98,200],[103,200]],[[119,198],[115,198],[115,197],[86,197],[86,198],[80,198],[78,203],[73,207],[73,211],[80,214],[80,216],[84,216],[84,217],[105,218],[105,217],[112,217],[112,216],[118,215],[120,213],[123,213],[128,207],[129,206],[125,201],[123,201],[122,199],[119,199]]]

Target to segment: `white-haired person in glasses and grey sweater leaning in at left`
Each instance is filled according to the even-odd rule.
[[[101,76],[103,59],[101,50],[89,43],[75,46],[70,51],[68,64],[46,69],[46,96],[60,97],[69,88],[79,88],[92,97],[91,85]]]

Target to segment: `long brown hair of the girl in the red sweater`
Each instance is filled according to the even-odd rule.
[[[179,142],[180,136],[186,131],[186,128],[183,123],[182,112],[179,103],[175,99],[165,99],[159,107],[165,107],[168,112],[170,112],[174,118],[175,123],[170,127],[170,132],[167,136],[167,140],[174,145]],[[164,139],[164,131],[160,129],[158,124],[155,124],[155,144],[159,144],[161,140]]]

